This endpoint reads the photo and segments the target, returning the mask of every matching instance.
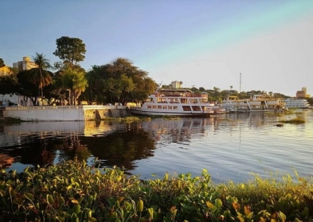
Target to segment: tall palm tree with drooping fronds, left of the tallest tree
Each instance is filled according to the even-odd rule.
[[[35,62],[38,67],[31,69],[29,78],[33,85],[38,86],[38,95],[40,96],[41,90],[41,97],[43,97],[42,88],[50,85],[53,81],[47,69],[54,69],[54,67],[50,65],[50,60],[45,58],[42,53],[36,52],[35,56],[33,56],[33,62]]]

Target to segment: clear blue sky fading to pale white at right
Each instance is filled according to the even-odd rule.
[[[157,83],[313,96],[311,0],[0,1],[0,58],[86,44],[86,71],[128,58]]]

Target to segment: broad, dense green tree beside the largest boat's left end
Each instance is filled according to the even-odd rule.
[[[111,99],[120,103],[143,101],[157,89],[157,83],[147,77],[147,71],[138,69],[127,58],[94,65],[86,76],[88,98],[96,103],[108,103]]]

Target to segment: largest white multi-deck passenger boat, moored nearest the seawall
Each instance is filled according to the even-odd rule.
[[[207,93],[195,94],[189,89],[158,89],[130,111],[147,116],[209,116],[217,109],[211,107],[207,98]]]

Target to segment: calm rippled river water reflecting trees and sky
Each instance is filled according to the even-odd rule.
[[[299,116],[306,123],[278,121]],[[207,169],[214,182],[243,182],[252,174],[311,176],[313,112],[278,116],[265,112],[222,114],[216,118],[119,123],[117,121],[0,123],[0,164],[8,170],[86,160],[117,166],[142,179],[166,172],[199,176]]]

